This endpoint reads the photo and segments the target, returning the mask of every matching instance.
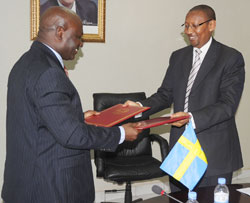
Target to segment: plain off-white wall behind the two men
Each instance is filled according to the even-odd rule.
[[[151,95],[161,84],[171,52],[185,46],[180,25],[188,9],[201,3],[216,11],[215,38],[240,50],[245,58],[245,90],[236,119],[246,170],[250,168],[249,0],[106,0],[106,43],[85,43],[78,59],[68,65],[74,69],[69,71],[70,78],[79,90],[84,110],[92,109],[94,92],[145,91]],[[7,78],[32,43],[30,1],[4,1],[1,8],[0,185],[5,160]],[[167,137],[165,128],[160,132]],[[103,180],[95,181],[97,192],[114,188]]]

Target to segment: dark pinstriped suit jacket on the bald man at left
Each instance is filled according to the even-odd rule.
[[[89,149],[115,150],[119,140],[118,127],[84,123],[77,90],[35,41],[9,75],[4,201],[93,202]]]

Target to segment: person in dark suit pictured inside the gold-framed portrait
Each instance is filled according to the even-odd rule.
[[[83,25],[97,25],[97,5],[91,0],[48,0],[40,6],[40,15],[51,6],[72,9],[80,16]]]

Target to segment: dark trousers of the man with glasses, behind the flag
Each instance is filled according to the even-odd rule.
[[[225,178],[226,184],[231,184],[232,176],[233,176],[233,173],[226,173],[226,174],[221,174],[221,175],[216,175],[216,176],[202,177],[199,183],[195,186],[194,191],[200,187],[216,186],[218,184],[218,178]],[[179,181],[175,180],[171,176],[169,177],[169,182],[170,182],[171,192],[178,192],[181,190],[188,191],[188,188],[186,188],[183,184],[181,184]]]

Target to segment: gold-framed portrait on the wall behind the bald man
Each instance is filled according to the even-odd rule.
[[[40,16],[51,6],[69,6],[82,20],[85,42],[105,42],[106,0],[30,0],[30,35],[36,39]]]

